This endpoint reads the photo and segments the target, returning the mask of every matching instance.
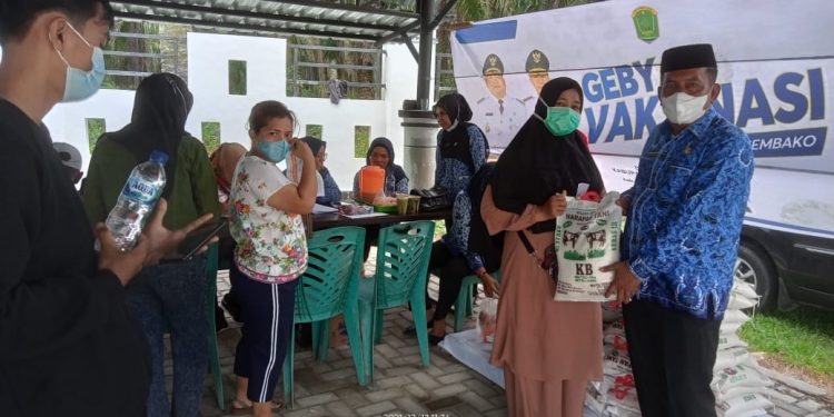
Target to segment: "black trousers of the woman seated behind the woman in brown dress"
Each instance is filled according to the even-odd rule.
[[[486,259],[485,259],[486,261]],[[466,258],[453,256],[449,248],[438,240],[431,245],[431,258],[428,261],[429,269],[440,268],[440,288],[438,290],[437,305],[433,320],[445,320],[451,306],[455,305],[460,294],[464,277],[471,275]],[[497,265],[485,265],[487,271],[498,269]],[[428,299],[428,296],[426,296]]]

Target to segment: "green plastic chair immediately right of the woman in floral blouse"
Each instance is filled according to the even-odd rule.
[[[367,385],[367,379],[357,298],[364,245],[365,229],[360,227],[316,231],[307,242],[307,271],[298,278],[294,314],[294,325],[312,324],[312,346],[318,360],[324,360],[329,350],[330,319],[344,315],[356,379],[361,386]],[[292,331],[284,361],[284,400],[289,408],[295,406],[295,356],[296,334]]]

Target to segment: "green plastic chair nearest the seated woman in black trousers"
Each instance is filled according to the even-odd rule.
[[[426,275],[434,232],[433,221],[405,222],[379,231],[376,274],[374,279],[363,279],[359,285],[365,369],[369,380],[374,378],[374,345],[383,335],[383,312],[406,302],[426,305]],[[426,328],[425,314],[413,317],[415,328]],[[417,331],[417,341],[423,366],[428,367],[428,332]]]

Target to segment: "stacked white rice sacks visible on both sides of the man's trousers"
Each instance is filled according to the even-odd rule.
[[[721,325],[713,381],[718,417],[764,416],[773,408],[765,388],[772,383],[738,337],[749,320],[743,309],[754,308],[758,296],[753,286],[733,284],[729,304]],[[628,357],[623,314],[617,302],[603,302],[603,380],[588,384],[585,406],[600,417],[638,417],[637,389]]]

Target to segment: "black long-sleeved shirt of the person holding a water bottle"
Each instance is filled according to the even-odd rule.
[[[147,341],[46,128],[0,99],[0,414],[143,416]]]

